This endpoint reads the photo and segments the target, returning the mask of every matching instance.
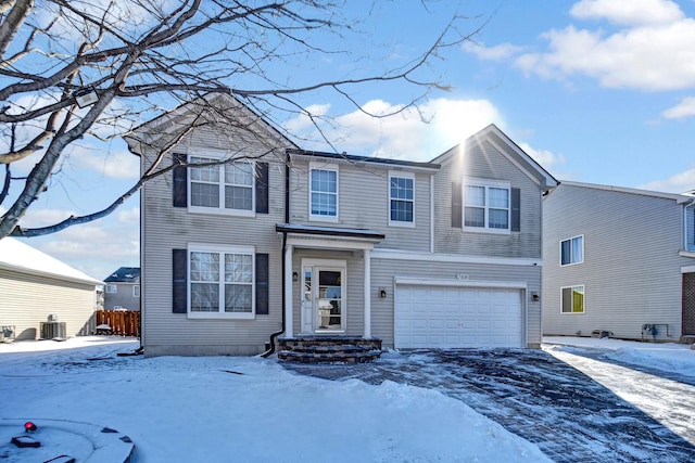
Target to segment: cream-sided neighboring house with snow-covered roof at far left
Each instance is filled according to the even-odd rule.
[[[90,334],[103,283],[12,239],[0,240],[0,327],[9,339]],[[12,331],[12,333],[10,333]]]

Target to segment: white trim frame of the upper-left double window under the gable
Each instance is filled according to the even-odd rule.
[[[194,166],[194,162],[192,160],[193,157],[202,157],[205,159],[213,159],[213,160],[229,160],[229,162],[225,162],[219,164],[218,166],[212,166],[212,167],[217,167],[218,169],[218,173],[219,173],[219,180],[217,181],[217,187],[218,187],[218,195],[219,195],[219,206],[217,207],[207,207],[207,206],[197,206],[192,204],[192,195],[193,195],[193,183],[195,183],[197,181],[193,180],[193,169],[195,169]],[[188,159],[190,162],[190,165],[187,167],[188,172],[186,176],[186,182],[187,182],[187,192],[186,192],[186,205],[187,208],[190,213],[195,213],[195,214],[215,214],[215,215],[224,215],[224,216],[239,216],[239,217],[255,217],[256,215],[256,163],[253,159],[237,159],[237,160],[230,160],[229,156],[226,152],[218,152],[218,151],[214,151],[214,150],[207,150],[205,153],[189,153],[188,154]],[[225,167],[227,165],[233,165],[236,163],[247,163],[251,165],[251,171],[252,171],[252,179],[251,179],[251,209],[232,209],[232,208],[227,208],[225,207],[225,185],[227,183],[225,183]],[[198,182],[198,183],[207,183],[210,184],[211,182]]]

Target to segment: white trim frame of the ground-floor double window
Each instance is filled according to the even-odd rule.
[[[210,244],[190,243],[186,254],[186,313],[189,319],[231,319],[231,320],[253,320],[256,318],[256,259],[254,246],[217,246]],[[225,254],[245,254],[251,256],[251,311],[250,312],[225,312],[224,311],[224,258],[220,260],[219,274],[217,282],[219,286],[219,311],[218,312],[193,312],[191,311],[191,253],[217,253],[222,256]]]

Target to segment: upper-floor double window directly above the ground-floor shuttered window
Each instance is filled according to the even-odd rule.
[[[254,165],[248,160],[227,162],[195,167],[195,164],[218,163],[219,158],[191,156],[191,208],[206,211],[252,214],[254,210]]]

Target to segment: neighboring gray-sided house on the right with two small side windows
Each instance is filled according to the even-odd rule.
[[[543,333],[695,335],[695,197],[563,182],[544,202]]]

